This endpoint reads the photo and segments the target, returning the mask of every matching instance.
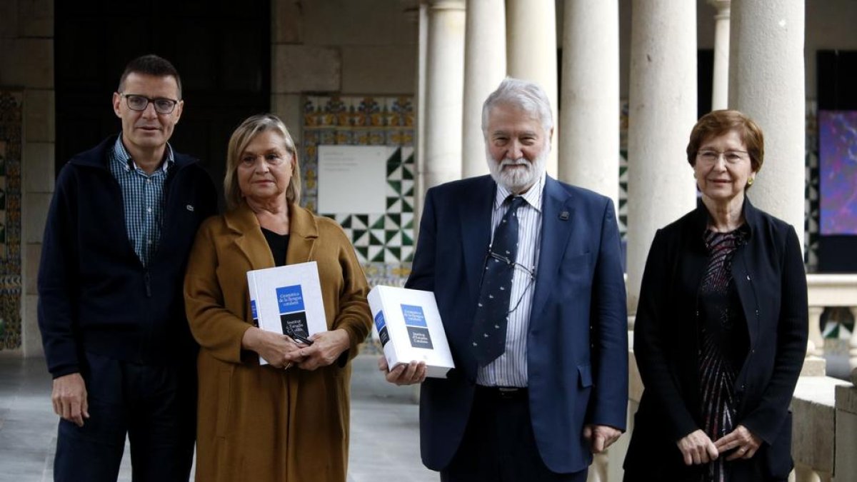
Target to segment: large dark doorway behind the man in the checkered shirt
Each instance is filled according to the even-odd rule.
[[[183,82],[184,113],[171,138],[199,158],[222,190],[229,136],[271,98],[270,0],[54,2],[57,172],[121,130],[111,108],[124,66],[155,53]]]

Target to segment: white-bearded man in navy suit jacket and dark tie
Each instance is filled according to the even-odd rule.
[[[627,319],[613,203],[545,172],[553,119],[507,78],[482,107],[490,176],[428,190],[411,288],[434,292],[456,368],[422,382],[423,463],[444,481],[583,481],[625,430]]]

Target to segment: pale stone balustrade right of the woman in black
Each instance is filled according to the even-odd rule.
[[[824,355],[824,338],[819,320],[825,307],[844,306],[857,318],[857,274],[807,274],[809,297],[808,354]],[[848,341],[848,366],[857,368],[857,327]]]

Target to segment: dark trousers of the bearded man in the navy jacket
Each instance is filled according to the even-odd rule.
[[[554,473],[544,465],[530,424],[526,389],[476,387],[464,439],[441,482],[585,482],[587,471]]]

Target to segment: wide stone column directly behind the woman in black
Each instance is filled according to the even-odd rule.
[[[729,106],[752,117],[764,132],[764,166],[748,197],[794,226],[802,247],[804,2],[734,3],[729,44]]]

